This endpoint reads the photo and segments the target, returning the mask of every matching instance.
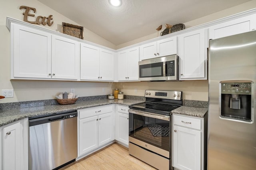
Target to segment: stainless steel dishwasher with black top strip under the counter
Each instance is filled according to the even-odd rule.
[[[77,111],[29,118],[29,170],[58,169],[77,157]]]

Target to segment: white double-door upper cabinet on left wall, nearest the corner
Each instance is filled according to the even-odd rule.
[[[114,81],[114,52],[81,43],[80,80]]]

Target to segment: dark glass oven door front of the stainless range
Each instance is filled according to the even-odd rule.
[[[170,150],[170,121],[129,113],[129,136]]]

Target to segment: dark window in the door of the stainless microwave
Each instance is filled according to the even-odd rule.
[[[163,76],[163,63],[140,65],[140,77]]]

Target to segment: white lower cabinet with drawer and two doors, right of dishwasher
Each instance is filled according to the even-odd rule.
[[[113,105],[78,110],[78,156],[114,140]]]

